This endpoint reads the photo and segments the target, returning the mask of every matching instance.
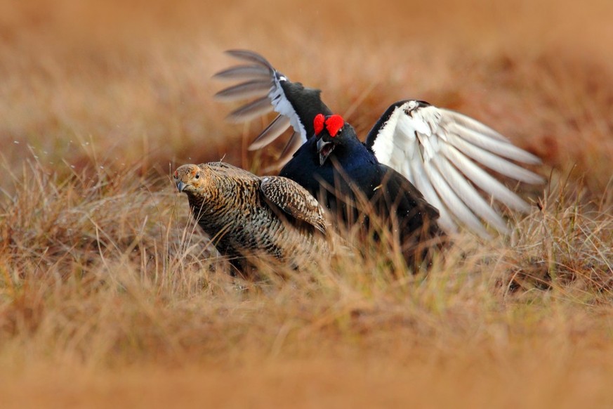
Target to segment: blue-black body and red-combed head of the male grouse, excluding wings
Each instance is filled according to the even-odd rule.
[[[318,197],[336,220],[364,232],[372,218],[386,226],[401,245],[407,264],[421,264],[428,249],[440,245],[437,209],[401,174],[378,162],[350,124],[338,115],[315,119],[315,134],[281,169]]]

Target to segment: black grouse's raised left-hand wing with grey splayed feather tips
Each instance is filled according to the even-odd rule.
[[[249,150],[261,149],[272,143],[290,126],[294,130],[277,162],[276,167],[280,168],[315,133],[315,116],[319,113],[331,115],[332,112],[319,97],[319,89],[305,88],[299,82],[289,81],[259,54],[245,50],[226,53],[245,64],[220,71],[213,78],[243,82],[219,91],[215,94],[216,98],[225,101],[255,98],[230,112],[228,119],[231,122],[249,122],[272,110],[279,114],[251,143]]]

